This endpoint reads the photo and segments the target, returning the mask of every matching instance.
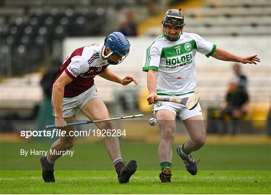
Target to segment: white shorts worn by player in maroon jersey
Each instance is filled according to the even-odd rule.
[[[100,97],[98,91],[93,85],[88,90],[84,91],[78,96],[71,97],[71,98],[63,98],[62,101],[62,110],[63,110],[63,118],[71,117],[76,114],[77,110],[81,110],[82,107],[92,98]],[[53,115],[55,115],[55,110],[53,106],[53,98],[52,98],[52,109]]]

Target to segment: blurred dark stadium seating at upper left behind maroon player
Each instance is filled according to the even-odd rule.
[[[0,56],[5,63],[1,63],[1,76],[37,71],[48,63],[56,43],[65,37],[104,36],[115,31],[125,9],[139,13],[136,20],[140,22],[148,16],[150,2],[2,1]],[[24,72],[19,70],[22,67]]]

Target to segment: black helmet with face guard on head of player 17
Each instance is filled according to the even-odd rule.
[[[183,28],[184,28],[184,16],[183,13],[180,10],[168,10],[164,20],[162,21],[162,26],[163,26],[163,33],[165,34],[166,38],[169,41],[176,41],[180,38],[180,36],[183,34]],[[179,30],[178,35],[171,35],[167,32],[166,27],[171,26],[174,29]],[[176,38],[173,38],[176,37]]]

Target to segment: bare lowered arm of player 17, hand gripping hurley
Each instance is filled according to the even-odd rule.
[[[147,75],[147,85],[149,89],[149,96],[147,97],[147,101],[150,104],[155,104],[155,98],[157,99],[157,93],[156,93],[156,80],[157,80],[157,71],[150,69],[148,71]]]

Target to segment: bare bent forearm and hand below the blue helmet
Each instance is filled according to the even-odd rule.
[[[138,85],[138,80],[134,76],[126,76],[123,79],[121,79],[119,76],[117,76],[115,73],[113,73],[109,68],[106,68],[102,73],[99,74],[100,77],[108,80],[113,81],[116,83],[120,83],[122,85],[128,85],[132,81]]]

